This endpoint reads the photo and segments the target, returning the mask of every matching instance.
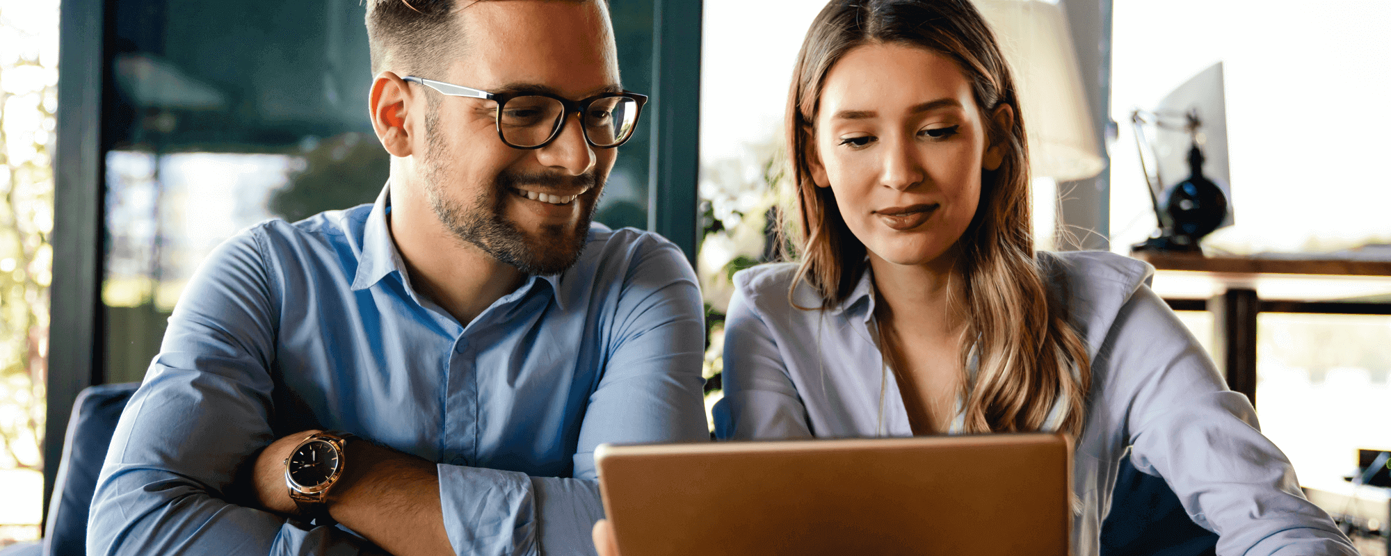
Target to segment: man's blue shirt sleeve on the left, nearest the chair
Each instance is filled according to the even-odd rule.
[[[259,231],[217,247],[174,309],[111,438],[89,555],[383,553],[344,530],[236,503],[255,498],[241,473],[275,438],[275,317]]]

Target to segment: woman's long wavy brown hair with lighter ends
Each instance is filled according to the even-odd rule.
[[[967,432],[1038,431],[1061,400],[1059,431],[1074,436],[1085,421],[1091,388],[1086,349],[1050,300],[1034,253],[1029,225],[1029,157],[1014,79],[989,25],[970,0],[832,0],[807,32],[787,99],[787,154],[801,213],[801,267],[822,307],[844,302],[865,271],[865,246],[846,227],[832,188],[811,179],[808,156],[826,72],[861,44],[928,49],[956,61],[972,83],[990,145],[1004,142],[1004,161],[983,171],[976,214],[957,242],[960,303],[978,370],[963,379]],[[1007,104],[1014,124],[1002,129],[992,114]],[[790,292],[789,292],[790,295]],[[965,377],[963,377],[965,378]]]

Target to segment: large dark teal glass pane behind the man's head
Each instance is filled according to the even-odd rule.
[[[106,108],[107,377],[138,381],[189,275],[266,218],[370,203],[389,172],[366,118],[364,7],[117,0]],[[652,10],[611,1],[625,86],[651,85]],[[647,126],[595,220],[647,227]]]

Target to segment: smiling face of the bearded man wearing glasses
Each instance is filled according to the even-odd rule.
[[[423,76],[572,100],[619,90],[602,1],[480,1],[458,19],[465,54],[448,75]],[[513,149],[498,138],[497,103],[420,90],[430,106],[424,193],[445,228],[527,274],[574,264],[616,149],[586,143],[574,115],[545,147]]]

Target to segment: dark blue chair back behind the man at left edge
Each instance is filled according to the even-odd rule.
[[[10,545],[0,556],[83,556],[86,555],[88,509],[96,478],[111,446],[115,423],[139,382],[89,386],[72,402],[63,460],[58,463],[49,523],[39,542]]]

